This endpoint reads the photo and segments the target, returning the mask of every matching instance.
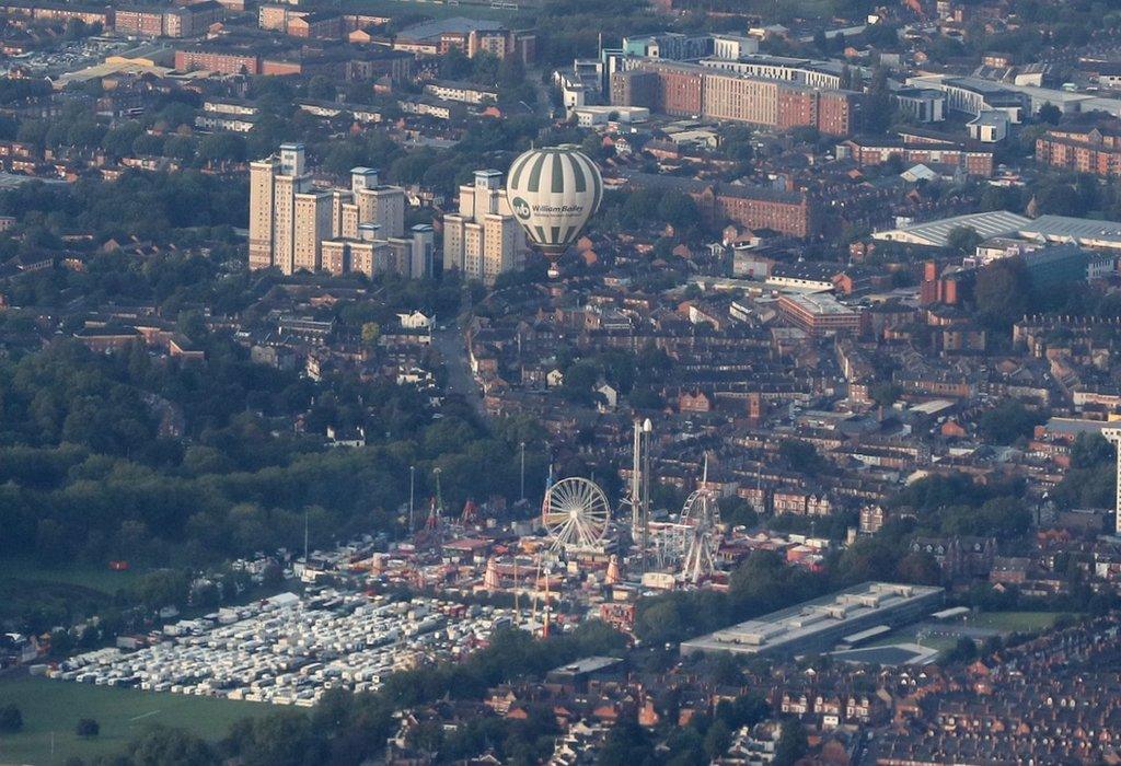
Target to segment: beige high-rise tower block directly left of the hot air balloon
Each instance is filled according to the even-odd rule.
[[[460,187],[460,212],[444,216],[444,270],[493,284],[524,260],[525,232],[502,189],[502,174],[479,170]]]

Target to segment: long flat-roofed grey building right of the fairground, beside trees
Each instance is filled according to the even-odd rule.
[[[803,654],[881,625],[912,623],[936,610],[945,591],[928,586],[864,582],[682,643],[682,654]]]

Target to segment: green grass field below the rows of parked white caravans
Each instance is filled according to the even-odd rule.
[[[0,706],[9,702],[16,703],[24,713],[24,730],[17,735],[0,735],[0,764],[36,766],[64,764],[74,756],[89,760],[99,755],[115,754],[151,723],[178,727],[207,739],[219,739],[233,721],[276,709],[254,702],[112,689],[28,676],[0,680]],[[80,718],[95,719],[101,725],[101,735],[92,739],[75,735],[74,727]]]

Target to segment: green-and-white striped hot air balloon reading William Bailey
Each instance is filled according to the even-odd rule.
[[[556,262],[600,207],[603,178],[575,144],[530,149],[510,166],[506,194],[513,217],[549,262],[549,277],[557,277]]]

